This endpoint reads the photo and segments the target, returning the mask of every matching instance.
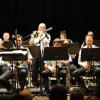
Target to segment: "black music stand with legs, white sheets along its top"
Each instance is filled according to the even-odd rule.
[[[14,69],[14,61],[26,61],[28,59],[27,53],[26,54],[22,54],[21,52],[16,53],[13,51],[16,50],[22,50],[22,51],[27,51],[27,49],[2,49],[0,50],[0,56],[2,56],[3,61],[11,61],[12,62],[12,73],[13,73],[13,69]],[[18,72],[18,66],[17,66],[17,72]],[[18,76],[16,76],[17,81],[17,86],[15,85],[15,88],[17,87],[18,89]],[[12,78],[12,86],[14,86],[13,84],[14,80]]]

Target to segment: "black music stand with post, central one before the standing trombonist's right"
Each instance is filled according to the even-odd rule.
[[[57,73],[57,60],[67,60],[68,57],[68,48],[67,47],[46,47],[44,49],[43,59],[45,61],[54,60],[56,61],[56,80],[59,82],[58,73]]]

